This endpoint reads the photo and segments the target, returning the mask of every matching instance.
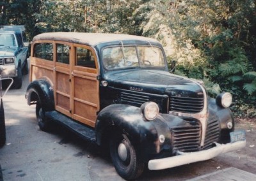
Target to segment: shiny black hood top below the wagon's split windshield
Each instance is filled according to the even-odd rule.
[[[194,94],[202,96],[202,87],[193,80],[173,75],[168,71],[154,69],[134,69],[129,71],[109,72],[106,80],[110,85],[130,91],[147,92],[151,94],[167,94],[189,97]]]

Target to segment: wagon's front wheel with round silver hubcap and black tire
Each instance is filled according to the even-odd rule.
[[[109,141],[109,147],[112,162],[121,177],[126,180],[140,177],[145,164],[126,134],[114,134]]]

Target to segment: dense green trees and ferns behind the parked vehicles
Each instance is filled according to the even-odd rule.
[[[204,80],[212,96],[231,92],[232,109],[253,115],[255,12],[255,0],[3,0],[0,25],[26,25],[29,40],[49,31],[157,38],[169,62],[177,62],[175,73]]]

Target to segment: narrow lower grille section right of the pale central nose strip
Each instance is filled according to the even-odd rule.
[[[212,117],[208,120],[205,141],[204,141],[204,150],[207,150],[212,147],[213,142],[217,142],[220,138],[220,123],[216,117]]]

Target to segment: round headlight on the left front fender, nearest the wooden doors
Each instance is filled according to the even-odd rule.
[[[147,102],[141,105],[141,111],[147,120],[154,120],[159,113],[159,107],[154,102]]]

